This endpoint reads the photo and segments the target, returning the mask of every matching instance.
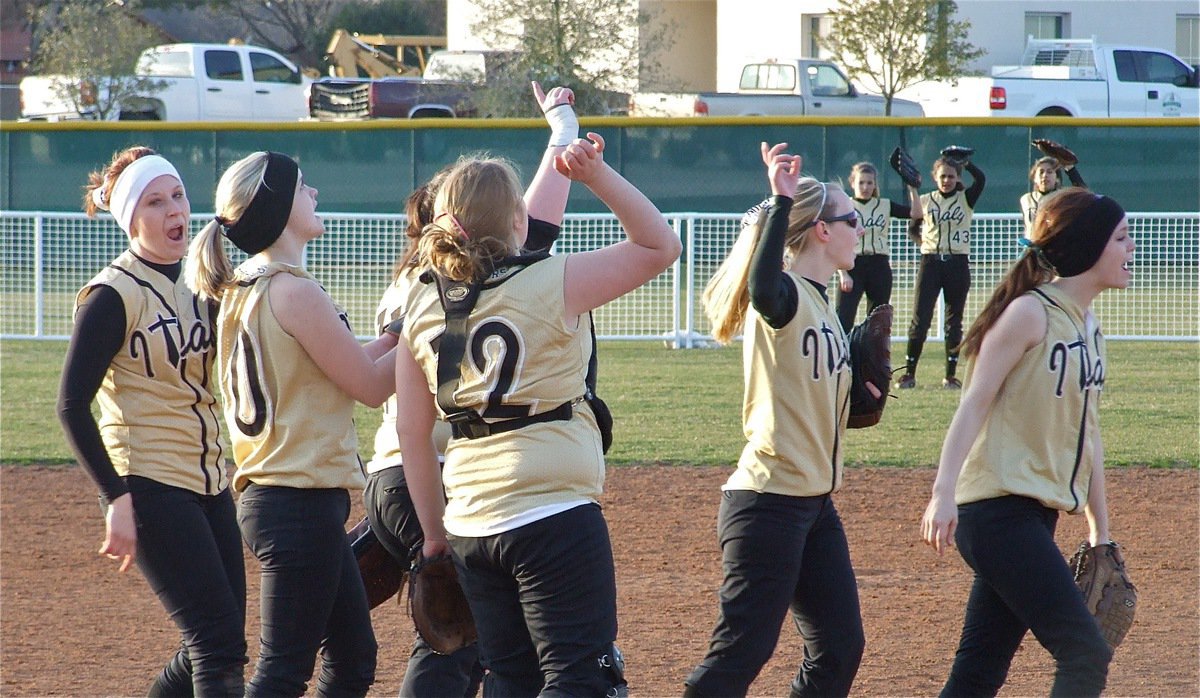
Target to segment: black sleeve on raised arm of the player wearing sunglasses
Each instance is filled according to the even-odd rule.
[[[784,242],[787,239],[787,216],[791,211],[792,199],[772,197],[758,245],[750,258],[746,281],[750,305],[776,330],[792,321],[796,308],[799,307],[796,284],[784,273]]]

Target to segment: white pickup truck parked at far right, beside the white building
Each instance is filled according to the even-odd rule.
[[[1196,71],[1157,48],[1030,40],[1019,66],[991,70],[994,116],[1200,115]]]

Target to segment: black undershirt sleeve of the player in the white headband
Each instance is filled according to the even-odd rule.
[[[76,459],[100,488],[104,504],[128,492],[104,450],[91,403],[125,341],[125,303],[107,285],[79,303],[59,384],[59,422]]]

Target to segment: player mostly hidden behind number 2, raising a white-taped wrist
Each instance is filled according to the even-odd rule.
[[[524,200],[529,212],[528,251],[547,251],[558,239],[566,197],[571,182],[554,170],[554,156],[563,152],[577,136],[578,120],[571,103],[575,95],[566,88],[554,88],[548,95],[533,83],[534,97],[542,107],[551,125],[550,143],[534,175]],[[428,183],[414,191],[406,205],[409,246],[401,257],[396,279],[384,291],[376,313],[379,332],[403,318],[404,303],[413,290],[420,288],[416,259],[418,241],[426,225],[433,222],[433,201],[438,187],[454,166],[433,175]],[[438,453],[445,452],[450,425],[438,421],[434,440]],[[439,456],[440,459],[440,456]],[[406,568],[412,562],[412,550],[420,548],[424,536],[413,509],[413,500],[401,467],[400,443],[396,435],[396,396],[384,403],[383,421],[376,432],[374,457],[367,463],[367,485],[362,493],[367,519],[380,544]],[[418,634],[400,687],[402,697],[437,698],[474,696],[484,676],[479,663],[479,648],[474,644],[452,655],[433,651]]]

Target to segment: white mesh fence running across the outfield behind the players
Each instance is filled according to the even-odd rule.
[[[700,303],[704,285],[733,245],[740,213],[668,213],[684,240],[678,263],[642,288],[595,312],[605,339],[662,341],[672,347],[709,344],[709,324]],[[193,215],[194,235],[211,215]],[[348,312],[355,332],[373,333],[374,311],[404,245],[402,215],[322,213],[326,233],[310,243],[306,267]],[[892,305],[896,338],[907,331],[919,252],[905,235],[906,221],[893,221],[890,245],[895,273]],[[1134,278],[1122,291],[1102,294],[1094,305],[1104,332],[1114,339],[1200,338],[1200,213],[1129,213],[1138,245]],[[1021,253],[1019,215],[978,213],[972,225],[971,293],[964,321],[970,325],[992,288]],[[616,217],[568,215],[554,252],[594,249],[624,237]],[[0,337],[65,339],[71,333],[76,293],[127,247],[107,215],[0,211]],[[232,246],[234,263],[242,257]],[[833,284],[834,279],[830,279]],[[830,285],[830,297],[833,296]],[[859,308],[859,318],[865,309]],[[942,307],[930,329],[942,339]]]

